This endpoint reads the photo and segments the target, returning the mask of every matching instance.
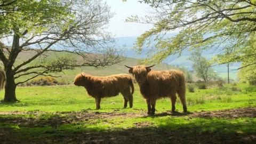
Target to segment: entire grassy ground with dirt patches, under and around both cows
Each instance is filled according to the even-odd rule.
[[[3,95],[3,91],[0,93]],[[0,103],[1,143],[253,143],[256,140],[256,87],[208,86],[187,92],[189,113],[171,113],[170,99],[146,114],[135,87],[133,108],[123,97],[94,99],[74,85],[18,87],[17,103]]]

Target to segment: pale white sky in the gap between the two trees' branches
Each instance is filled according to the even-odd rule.
[[[137,0],[105,0],[111,7],[111,12],[115,12],[113,18],[110,19],[108,31],[115,37],[133,37],[140,36],[146,30],[152,28],[152,25],[134,22],[125,22],[127,17],[131,15],[143,16],[150,11],[150,7]]]

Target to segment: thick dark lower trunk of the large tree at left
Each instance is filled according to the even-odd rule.
[[[6,71],[6,84],[5,84],[5,94],[3,102],[16,102],[18,101],[16,98],[16,84],[14,82],[13,71]]]

